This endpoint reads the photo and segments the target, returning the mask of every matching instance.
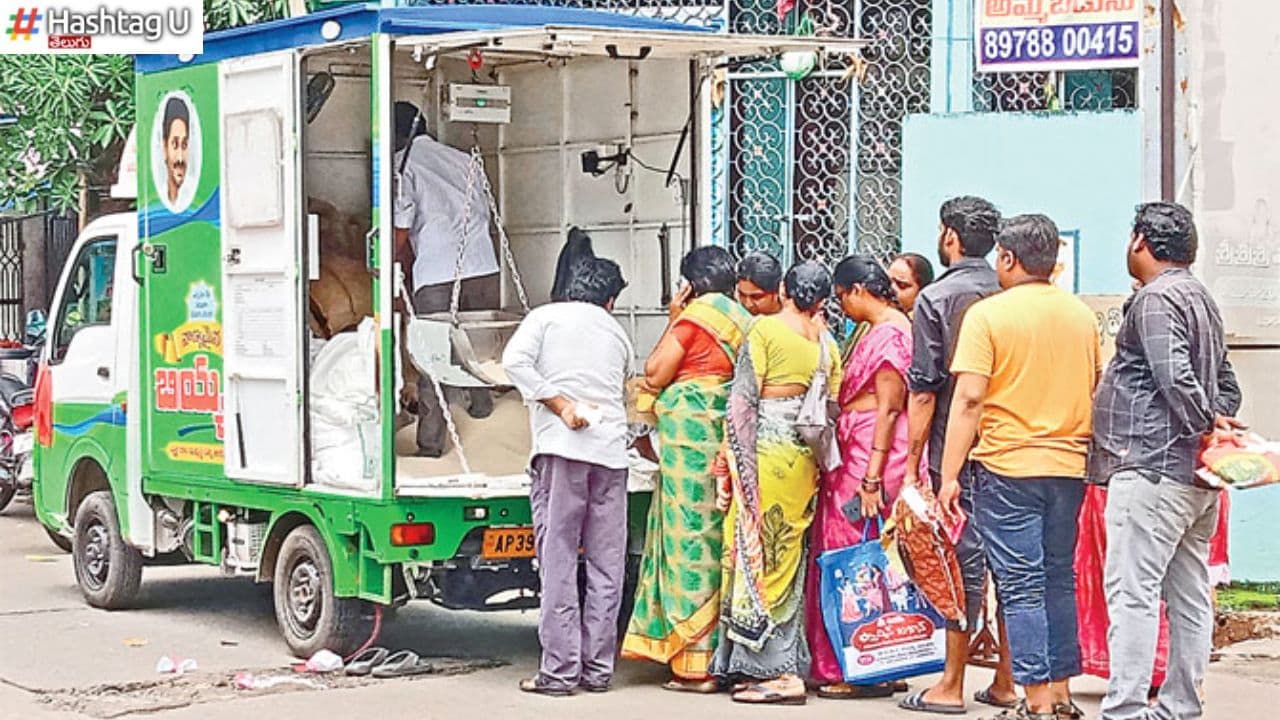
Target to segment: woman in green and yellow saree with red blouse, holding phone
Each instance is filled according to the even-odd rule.
[[[724,515],[716,507],[712,462],[724,438],[737,348],[751,322],[731,297],[733,270],[723,247],[685,256],[685,287],[645,363],[645,384],[659,392],[660,479],[622,655],[668,664],[673,679],[663,687],[671,691],[717,691],[708,664],[718,637]]]

